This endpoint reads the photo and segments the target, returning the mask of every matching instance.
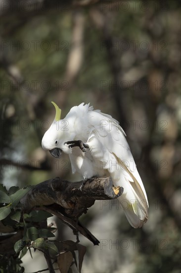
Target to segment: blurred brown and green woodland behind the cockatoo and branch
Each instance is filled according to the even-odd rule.
[[[115,201],[96,202],[82,221],[100,246],[80,236],[88,248],[82,271],[179,273],[180,1],[1,0],[0,8],[1,183],[78,181],[68,158],[53,158],[41,139],[54,118],[50,101],[62,117],[90,102],[125,130],[149,218],[134,229]],[[57,224],[59,238],[73,238]],[[35,256],[23,260],[25,272],[46,267]]]

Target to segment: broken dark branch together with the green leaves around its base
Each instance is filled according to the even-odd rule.
[[[49,272],[54,273],[52,261],[57,263],[60,272],[68,272],[73,264],[81,272],[86,247],[79,243],[79,233],[94,245],[99,241],[81,224],[79,217],[95,200],[116,199],[123,193],[123,188],[113,187],[110,178],[91,178],[84,182],[82,191],[83,181],[68,182],[58,177],[23,189],[13,186],[7,191],[0,185],[1,269],[13,258],[11,268],[17,270],[19,266],[18,272],[23,273],[21,258],[33,248],[44,253]],[[72,229],[76,242],[50,240],[55,237],[56,226],[47,226],[46,220],[52,215]]]

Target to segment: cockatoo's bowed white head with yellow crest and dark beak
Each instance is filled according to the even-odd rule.
[[[42,147],[48,150],[54,157],[60,157],[62,151],[65,153],[71,153],[72,150],[64,145],[64,142],[72,140],[72,134],[70,132],[70,124],[66,120],[60,120],[61,110],[58,106],[51,102],[56,110],[55,118],[50,128],[45,132],[42,138]]]

